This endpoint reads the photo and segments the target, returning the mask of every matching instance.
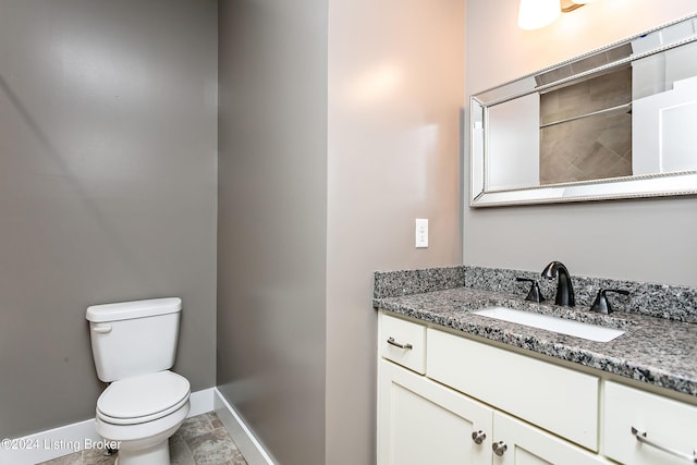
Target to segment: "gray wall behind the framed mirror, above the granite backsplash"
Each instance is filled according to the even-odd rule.
[[[695,12],[692,0],[587,4],[543,29],[517,28],[517,2],[467,1],[467,95]],[[622,21],[617,21],[622,19]],[[465,170],[469,189],[469,170]],[[464,262],[697,285],[697,198],[469,209]]]

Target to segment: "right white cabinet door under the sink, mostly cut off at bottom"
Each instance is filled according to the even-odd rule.
[[[496,445],[493,445],[496,444]],[[500,412],[493,414],[494,465],[598,465],[607,460]]]

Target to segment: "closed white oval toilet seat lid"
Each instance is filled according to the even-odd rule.
[[[191,394],[188,380],[164,370],[114,381],[97,400],[97,417],[112,425],[152,421],[181,408]]]

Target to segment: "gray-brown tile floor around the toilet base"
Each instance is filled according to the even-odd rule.
[[[76,452],[38,465],[113,465],[117,455],[101,450]],[[218,416],[210,412],[187,418],[170,438],[172,465],[246,465]]]

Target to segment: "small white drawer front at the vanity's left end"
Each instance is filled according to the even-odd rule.
[[[423,325],[381,314],[378,350],[388,360],[420,375],[426,372],[426,327]]]

